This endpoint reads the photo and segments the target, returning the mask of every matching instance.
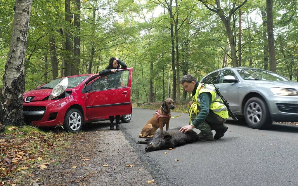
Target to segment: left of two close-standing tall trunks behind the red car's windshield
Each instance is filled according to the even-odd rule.
[[[65,21],[71,25],[70,0],[65,0]],[[69,28],[65,31],[66,57],[65,57],[65,76],[72,74],[72,34]]]

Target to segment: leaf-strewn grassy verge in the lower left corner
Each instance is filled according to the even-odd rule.
[[[75,136],[32,126],[6,126],[0,133],[0,186],[31,185],[34,171],[65,159],[59,151],[69,147]]]

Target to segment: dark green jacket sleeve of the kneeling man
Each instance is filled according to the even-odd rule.
[[[192,122],[193,126],[195,127],[199,126],[207,118],[207,115],[209,114],[212,97],[209,92],[204,92],[199,95],[199,98],[201,100],[200,112]]]

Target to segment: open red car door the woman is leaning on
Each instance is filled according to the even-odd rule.
[[[131,78],[133,68],[101,76],[87,86],[86,114],[89,120],[110,115],[131,114]]]

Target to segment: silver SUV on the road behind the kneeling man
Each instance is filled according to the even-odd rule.
[[[211,79],[229,102],[232,112],[254,129],[265,129],[272,121],[298,121],[298,82],[258,68],[221,68],[201,79]]]

